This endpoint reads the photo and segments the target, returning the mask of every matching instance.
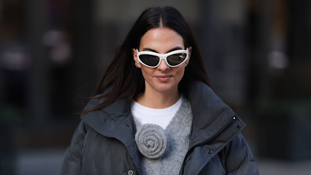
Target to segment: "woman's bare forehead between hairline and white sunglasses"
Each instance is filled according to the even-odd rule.
[[[161,27],[147,31],[140,39],[139,50],[149,48],[158,53],[167,53],[172,48],[184,49],[184,39],[173,29]]]

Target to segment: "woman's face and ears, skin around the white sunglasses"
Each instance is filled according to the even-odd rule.
[[[169,53],[174,50],[185,50],[184,39],[170,28],[155,28],[147,31],[140,39],[139,48],[133,48],[134,60],[145,79],[146,91],[149,92],[176,92],[178,83],[184,76],[185,68],[189,63],[191,47],[189,47],[189,59],[177,67],[169,67],[164,60],[156,68],[149,68],[139,63],[137,52],[151,51],[155,53]],[[146,92],[145,91],[145,92]]]

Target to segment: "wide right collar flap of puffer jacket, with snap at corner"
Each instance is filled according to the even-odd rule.
[[[188,91],[191,103],[193,125],[190,137],[190,148],[212,140],[218,136],[233,120],[239,121],[240,126],[232,125],[226,129],[226,141],[237,135],[245,126],[234,111],[226,105],[215,92],[203,82],[194,81]],[[229,129],[229,130],[228,130]]]

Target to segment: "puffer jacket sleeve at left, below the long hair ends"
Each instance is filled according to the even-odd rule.
[[[86,135],[84,123],[81,121],[73,133],[67,148],[60,175],[82,175],[82,150]]]

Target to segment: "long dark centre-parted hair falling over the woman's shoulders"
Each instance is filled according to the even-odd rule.
[[[105,100],[83,113],[101,109],[117,99],[132,100],[145,90],[145,81],[141,70],[135,66],[132,49],[139,48],[140,39],[148,30],[160,27],[173,29],[183,37],[185,48],[192,47],[191,59],[178,90],[187,93],[193,80],[202,81],[212,88],[197,41],[185,18],[174,7],[151,7],[141,13],[104,73],[93,98],[105,97]]]

